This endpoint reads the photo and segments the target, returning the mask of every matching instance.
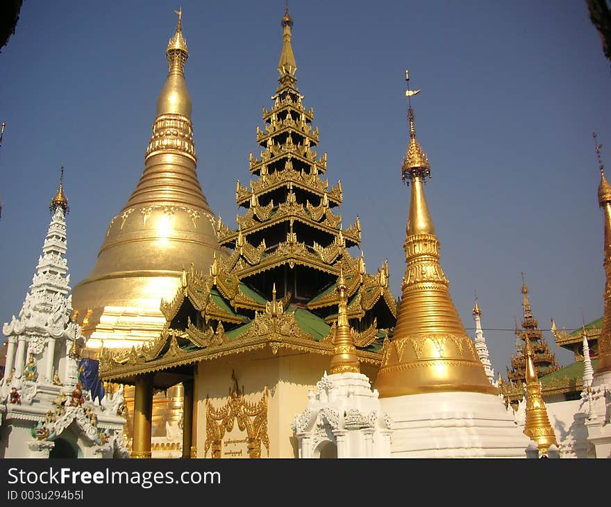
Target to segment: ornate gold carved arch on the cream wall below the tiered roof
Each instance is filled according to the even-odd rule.
[[[265,445],[269,456],[267,435],[269,390],[266,386],[261,399],[256,404],[251,403],[244,397],[244,386],[241,390],[238,387],[235,372],[231,373],[231,379],[233,387],[229,388],[228,401],[224,406],[215,408],[206,397],[206,443],[203,456],[206,458],[208,451],[211,451],[211,458],[221,457],[224,435],[233,430],[236,421],[240,431],[246,431],[249,458],[261,457],[261,444]]]

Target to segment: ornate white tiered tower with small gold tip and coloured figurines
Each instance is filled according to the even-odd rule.
[[[69,208],[61,179],[49,208],[53,216],[19,318],[13,315],[2,329],[8,348],[0,380],[0,457],[124,456],[122,393],[91,400],[79,378],[85,340],[71,318]]]

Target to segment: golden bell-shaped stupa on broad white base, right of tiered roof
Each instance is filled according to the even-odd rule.
[[[405,78],[408,81],[407,71]],[[410,102],[416,93],[408,88]],[[410,146],[415,142],[412,113]],[[404,244],[407,269],[396,326],[375,387],[380,397],[454,391],[498,394],[448,290],[440,265],[440,242],[424,195],[426,176],[430,176],[428,159],[410,157],[408,149],[402,168],[403,179],[412,186]]]

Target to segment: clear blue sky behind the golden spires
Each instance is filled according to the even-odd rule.
[[[0,323],[17,314],[65,166],[71,285],[144,167],[180,3],[25,1],[0,53]],[[284,2],[182,2],[198,174],[235,226],[256,127],[271,107]],[[584,1],[296,1],[298,86],[315,110],[344,225],[401,294],[409,189],[405,69],[441,263],[464,326],[474,290],[495,372],[515,351],[521,272],[542,329],[603,313],[603,216],[592,131],[611,171],[611,63]],[[358,255],[354,249],[353,254]],[[494,330],[507,331],[494,331]],[[473,331],[468,331],[473,335]],[[571,354],[546,340],[560,363]]]

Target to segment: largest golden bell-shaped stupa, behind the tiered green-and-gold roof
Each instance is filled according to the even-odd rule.
[[[165,324],[162,299],[172,299],[184,267],[208,269],[222,255],[215,217],[196,174],[191,99],[185,83],[189,56],[178,11],[165,50],[169,71],[158,96],[144,171],[126,205],[108,225],[90,275],[74,288],[88,349],[131,348],[152,340]]]

